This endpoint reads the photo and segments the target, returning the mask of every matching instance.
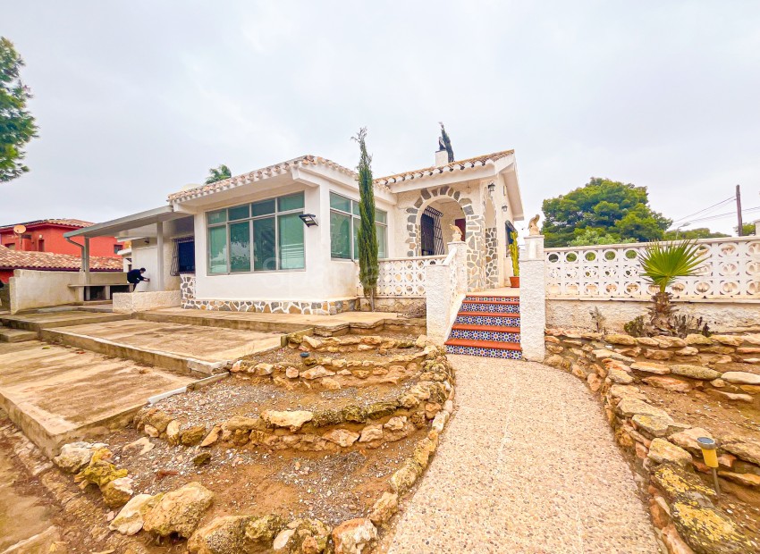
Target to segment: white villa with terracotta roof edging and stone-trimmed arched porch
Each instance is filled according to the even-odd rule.
[[[513,150],[452,163],[436,152],[430,167],[376,179],[375,197],[380,309],[424,301],[425,266],[443,261],[452,226],[468,290],[509,282],[509,231],[523,220]],[[84,239],[83,268],[89,238],[131,240],[131,266],[151,279],[140,290],[181,290],[182,307],[334,314],[359,308],[358,222],[356,172],[302,155],[68,236]]]

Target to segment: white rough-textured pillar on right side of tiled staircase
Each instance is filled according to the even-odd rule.
[[[525,238],[519,260],[519,342],[522,357],[543,362],[546,328],[546,274],[544,235]]]

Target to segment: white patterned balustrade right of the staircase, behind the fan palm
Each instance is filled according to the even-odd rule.
[[[680,299],[760,299],[760,237],[699,239],[707,255],[696,277],[669,291]],[[546,298],[651,298],[657,288],[641,276],[647,243],[545,248]]]

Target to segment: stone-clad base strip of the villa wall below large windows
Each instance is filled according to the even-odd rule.
[[[324,300],[199,300],[195,298],[195,275],[182,275],[182,308],[261,314],[334,315],[359,309],[359,299]]]

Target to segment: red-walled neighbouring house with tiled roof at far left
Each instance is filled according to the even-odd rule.
[[[17,235],[13,227],[21,224],[26,231]],[[92,225],[79,219],[40,219],[33,222],[17,222],[0,226],[0,245],[17,252],[51,252],[53,254],[68,254],[81,256],[81,250],[68,242],[63,233],[75,231]],[[118,258],[116,254],[122,249],[122,243],[114,237],[98,237],[89,244],[90,256],[106,256]]]

